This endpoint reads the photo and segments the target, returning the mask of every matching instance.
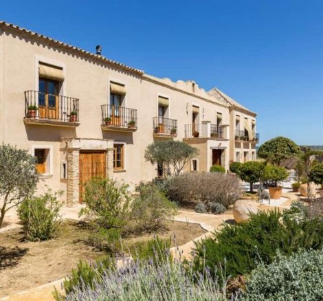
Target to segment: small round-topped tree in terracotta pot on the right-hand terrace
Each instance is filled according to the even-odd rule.
[[[284,181],[288,177],[285,168],[268,164],[263,171],[263,180],[269,183],[269,194],[271,199],[280,199],[282,195],[282,187],[278,186],[280,181]]]

